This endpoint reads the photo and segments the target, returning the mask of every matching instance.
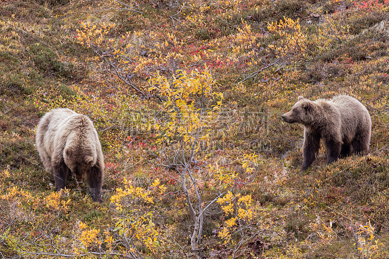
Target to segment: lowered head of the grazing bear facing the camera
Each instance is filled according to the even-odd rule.
[[[64,150],[65,164],[74,174],[76,182],[82,184],[84,182],[85,173],[96,164],[97,157],[93,157],[92,152],[80,152],[77,149],[67,147]]]

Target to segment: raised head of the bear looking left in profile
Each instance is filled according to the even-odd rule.
[[[287,123],[309,123],[309,119],[311,118],[312,110],[314,108],[314,103],[302,96],[299,96],[297,101],[298,102],[293,105],[289,112],[282,115],[283,121]]]

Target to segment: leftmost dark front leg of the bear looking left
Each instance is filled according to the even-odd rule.
[[[320,148],[320,135],[304,130],[304,144],[302,145],[302,171],[305,172],[316,158]]]

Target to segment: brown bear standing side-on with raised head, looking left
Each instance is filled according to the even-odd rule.
[[[304,125],[302,171],[313,163],[323,139],[327,164],[353,152],[367,153],[371,137],[371,119],[366,107],[351,96],[310,101],[299,96],[290,112],[282,115],[287,123]]]

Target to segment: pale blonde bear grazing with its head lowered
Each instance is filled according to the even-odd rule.
[[[57,191],[65,188],[69,170],[77,183],[87,174],[94,201],[102,202],[104,156],[92,121],[71,109],[53,109],[36,128],[36,148],[48,172],[53,172]]]

